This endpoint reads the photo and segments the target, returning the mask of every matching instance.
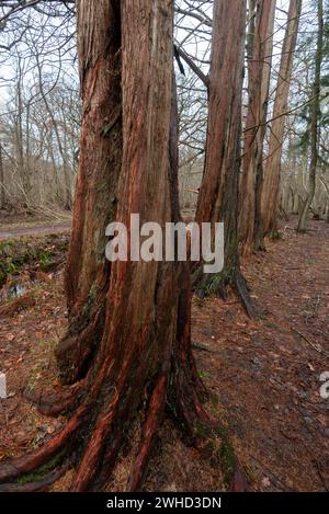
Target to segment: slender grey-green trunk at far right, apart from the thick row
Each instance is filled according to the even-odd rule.
[[[321,113],[320,107],[320,80],[321,80],[321,64],[324,53],[324,0],[318,0],[318,38],[317,38],[317,53],[315,64],[315,82],[314,82],[314,100],[311,102],[310,113],[310,164],[308,178],[308,194],[303,205],[303,210],[299,217],[298,232],[305,232],[307,224],[308,210],[311,206],[315,191],[316,191],[316,171],[318,165],[318,123]]]

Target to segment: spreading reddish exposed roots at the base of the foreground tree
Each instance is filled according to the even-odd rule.
[[[183,327],[184,322],[180,319],[178,325],[180,321]],[[2,483],[0,491],[46,490],[65,472],[68,462],[73,461],[78,462],[78,466],[71,490],[100,490],[111,477],[125,435],[134,420],[134,413],[140,408],[140,391],[148,391],[149,401],[145,411],[139,450],[127,483],[128,491],[137,491],[143,484],[166,404],[178,425],[194,444],[204,439],[205,427],[211,436],[209,420],[200,401],[200,396],[205,395],[205,388],[197,375],[194,375],[194,359],[184,336],[174,347],[172,354],[166,350],[167,358],[164,355],[161,372],[156,380],[148,377],[147,358],[141,359],[136,367],[134,353],[122,364],[117,380],[114,380],[115,386],[113,379],[117,368],[111,365],[109,359],[102,365],[99,363],[100,368],[95,379],[93,379],[94,369],[91,368],[88,374],[90,391],[80,400],[80,407],[66,427],[39,449],[0,466]],[[134,389],[129,387],[128,378],[132,374],[136,378]],[[65,391],[68,392],[70,391]],[[76,395],[80,393],[81,389],[77,387]],[[94,398],[98,400],[93,400]],[[93,414],[94,401],[99,403],[97,415]],[[86,438],[87,444],[83,445]],[[76,455],[78,445],[81,452]],[[58,467],[56,458],[63,453],[66,460]],[[52,462],[54,462],[53,470]],[[49,470],[47,468],[47,473],[43,471],[45,466],[50,468]],[[8,483],[9,481],[12,483]]]

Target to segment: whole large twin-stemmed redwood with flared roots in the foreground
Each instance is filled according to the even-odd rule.
[[[72,491],[100,489],[139,415],[127,483],[136,490],[166,406],[191,436],[207,422],[191,353],[186,264],[104,260],[104,228],[114,218],[128,225],[139,213],[141,222],[162,226],[180,218],[172,1],[77,7],[83,128],[67,266],[70,330],[57,353],[63,380],[80,380],[39,398],[43,412],[66,410],[67,424],[44,446],[3,462],[0,490],[45,489],[68,466]]]

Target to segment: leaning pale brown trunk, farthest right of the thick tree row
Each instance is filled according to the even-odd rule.
[[[281,176],[281,159],[284,141],[285,116],[287,110],[290,85],[292,80],[294,53],[296,48],[299,18],[303,0],[291,0],[287,25],[282,47],[281,65],[276,84],[273,108],[273,123],[265,162],[264,184],[262,192],[263,233],[276,231],[277,201]]]

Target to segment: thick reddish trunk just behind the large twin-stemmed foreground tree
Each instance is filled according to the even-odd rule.
[[[240,273],[237,229],[246,4],[246,0],[216,0],[214,7],[206,158],[195,220],[224,222],[225,265],[214,275],[204,275],[198,266],[193,282],[203,295],[225,296],[226,287],[235,286],[251,315]]]

